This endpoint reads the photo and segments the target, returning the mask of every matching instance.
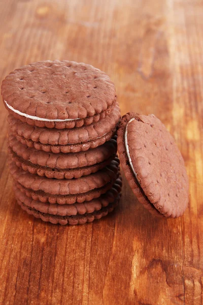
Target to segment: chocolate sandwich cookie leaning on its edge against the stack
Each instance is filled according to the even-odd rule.
[[[183,215],[188,177],[172,135],[153,114],[127,113],[118,130],[121,166],[138,200],[153,214]]]

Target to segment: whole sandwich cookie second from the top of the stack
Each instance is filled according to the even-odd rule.
[[[45,151],[51,150],[53,153],[59,153],[60,151],[63,153],[78,152],[102,145],[115,134],[119,119],[120,108],[118,105],[104,119],[88,126],[73,129],[39,128],[22,123],[12,115],[8,116],[10,130],[15,136],[20,137],[17,137],[18,140],[27,144],[27,146],[34,146]],[[29,143],[33,143],[33,145]],[[36,143],[37,145],[35,145]],[[53,148],[46,150],[43,149],[43,146]],[[65,147],[66,149],[54,150],[54,147]]]

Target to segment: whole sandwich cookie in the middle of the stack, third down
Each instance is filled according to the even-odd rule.
[[[53,154],[27,147],[13,135],[9,136],[9,151],[18,167],[32,174],[56,179],[79,178],[109,165],[116,156],[116,138],[86,152]]]

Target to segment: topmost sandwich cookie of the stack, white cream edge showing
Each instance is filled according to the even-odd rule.
[[[54,60],[11,72],[2,83],[8,111],[31,126],[74,128],[108,115],[116,102],[109,76],[90,65]]]

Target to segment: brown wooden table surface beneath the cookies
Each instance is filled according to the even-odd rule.
[[[1,103],[1,304],[203,303],[202,9],[200,0],[1,0],[1,80],[44,59],[104,70],[122,114],[164,122],[190,178],[179,219],[152,218],[124,178],[120,206],[106,219],[43,223],[14,199]]]

